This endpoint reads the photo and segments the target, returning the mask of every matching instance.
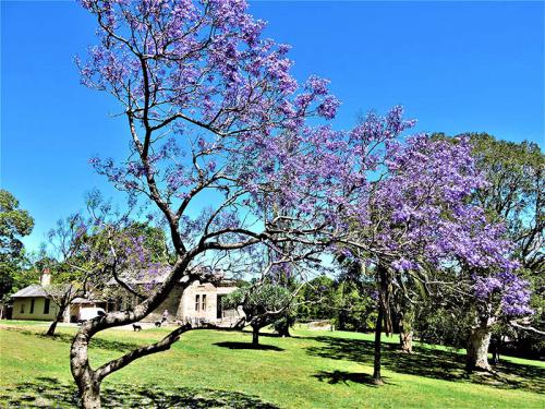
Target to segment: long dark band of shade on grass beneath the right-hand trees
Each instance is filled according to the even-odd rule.
[[[320,345],[307,348],[315,357],[360,362],[373,365],[374,344],[363,339],[346,339],[328,336],[310,337]],[[397,344],[383,344],[385,369],[444,381],[465,381],[506,389],[526,389],[545,394],[545,369],[500,361],[495,373],[467,373],[463,354],[435,348],[415,346],[413,353],[401,352]],[[319,374],[318,374],[319,375]],[[315,375],[318,377],[318,375]]]

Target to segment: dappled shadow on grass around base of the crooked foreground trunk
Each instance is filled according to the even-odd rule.
[[[107,385],[101,390],[105,408],[256,408],[277,409],[256,396],[206,388]],[[8,408],[77,408],[77,390],[51,377],[37,377],[0,395]]]

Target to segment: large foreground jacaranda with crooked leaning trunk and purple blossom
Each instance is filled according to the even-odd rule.
[[[92,369],[87,347],[106,328],[142,320],[175,282],[202,279],[191,267],[205,253],[271,244],[278,219],[269,203],[301,207],[290,231],[300,240],[325,224],[302,199],[316,185],[322,141],[307,118],[330,119],[339,105],[327,82],[302,87],[290,75],[289,47],[263,39],[264,23],[244,1],[83,1],[98,23],[99,44],[78,61],[85,85],[111,94],[128,121],[132,154],[95,168],[131,195],[156,206],[170,232],[175,261],[162,284],[132,311],[108,313],[78,330],[71,368],[84,407],[100,406],[100,382],[135,359],[165,350],[187,326],[161,341]],[[307,163],[308,161],[308,163]],[[325,167],[324,164],[319,165]],[[312,168],[314,167],[314,168]],[[307,168],[311,168],[307,170]],[[335,168],[334,168],[335,169]],[[301,179],[284,189],[282,181]],[[304,179],[307,180],[304,180]],[[201,214],[191,217],[197,199]],[[287,241],[286,234],[276,241]],[[272,246],[274,248],[274,246]]]

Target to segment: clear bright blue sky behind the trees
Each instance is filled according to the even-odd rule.
[[[331,80],[338,128],[402,104],[419,131],[544,146],[543,2],[267,1],[251,12],[293,46],[299,80]],[[126,152],[113,100],[80,85],[73,63],[94,32],[75,2],[1,1],[1,187],[36,220],[31,249],[86,191],[112,193],[88,158]]]

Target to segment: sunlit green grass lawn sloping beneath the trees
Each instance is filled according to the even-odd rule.
[[[0,324],[0,406],[74,407],[69,365],[74,328],[43,336],[47,324]],[[155,341],[166,328],[110,329],[92,342],[93,365]],[[416,345],[408,356],[396,338],[384,346],[386,385],[373,373],[367,334],[293,330],[293,338],[194,330],[167,352],[135,361],[102,384],[105,407],[177,408],[545,408],[545,364],[505,358],[498,374],[468,376],[463,354]]]

